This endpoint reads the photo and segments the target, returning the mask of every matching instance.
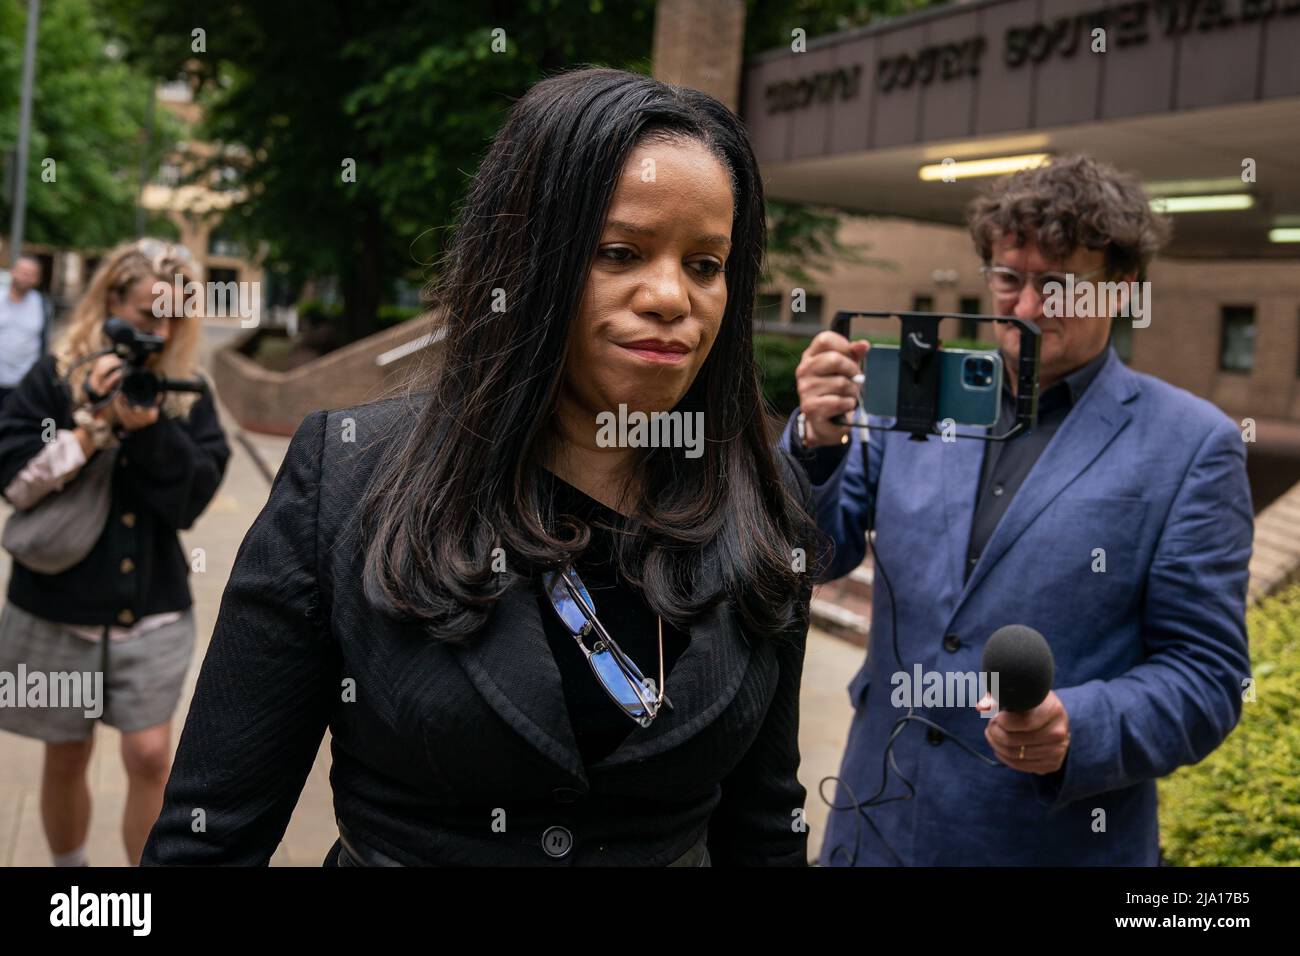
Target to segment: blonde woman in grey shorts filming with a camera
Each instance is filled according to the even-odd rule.
[[[121,389],[122,359],[101,352],[110,345],[105,320],[117,317],[156,337],[148,371],[196,378],[202,319],[172,300],[191,277],[183,247],[140,239],[112,250],[53,354],[0,411],[0,492],[20,511],[60,494],[95,455],[116,454],[108,518],[90,553],[58,574],[14,561],[0,613],[0,671],[103,675],[82,678],[101,688],[90,706],[0,706],[0,730],[46,741],[40,812],[55,865],[86,864],[96,719],[122,734],[131,864],[162,803],[170,719],[195,640],[177,532],[212,499],[230,449],[205,390],[164,392],[152,407],[135,406]]]

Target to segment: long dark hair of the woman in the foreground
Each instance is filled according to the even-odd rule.
[[[433,285],[445,329],[439,368],[412,386],[429,401],[396,425],[402,437],[360,507],[364,589],[384,613],[463,640],[515,581],[586,546],[588,527],[572,522],[562,536],[550,519],[541,463],[554,450],[549,424],[606,212],[629,153],[647,140],[701,143],[725,166],[732,255],[718,337],[676,406],[703,412],[703,454],[633,449],[640,528],[627,522],[615,532],[641,533],[615,533],[615,559],[679,627],[724,597],[751,632],[775,635],[803,620],[811,546],[822,538],[781,481],[754,364],[751,310],[766,241],[757,161],[741,122],[718,100],[612,69],[533,86],[460,207]],[[507,310],[494,311],[502,297]],[[696,583],[710,580],[708,545],[722,587],[693,597]],[[793,570],[797,549],[807,571]]]

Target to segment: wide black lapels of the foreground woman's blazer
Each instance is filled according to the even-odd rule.
[[[714,572],[712,544],[708,559]],[[559,667],[542,627],[538,587],[523,581],[502,594],[484,633],[468,645],[456,645],[454,657],[503,721],[542,756],[585,783]],[[701,587],[697,583],[697,596]],[[701,615],[689,633],[690,643],[667,675],[673,708],[660,709],[649,727],[633,727],[611,754],[593,766],[618,766],[677,747],[715,721],[736,697],[751,646],[727,601]]]

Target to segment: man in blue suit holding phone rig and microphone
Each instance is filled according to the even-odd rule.
[[[1076,291],[1144,277],[1167,226],[1135,179],[1058,160],[994,183],[970,226],[994,313],[1043,329],[1039,427],[1000,444],[836,425],[857,406],[870,346],[823,332],[781,440],[836,545],[823,580],[857,567],[876,532],[871,649],[849,685],[822,862],[1154,865],[1156,778],[1222,743],[1249,679],[1242,434],[1210,403],[1124,367],[1109,345],[1114,308],[1044,315],[1067,274]],[[1001,433],[1019,333],[994,328]],[[987,700],[945,700],[910,711],[928,723],[898,726],[915,702],[900,675],[978,672],[1004,624],[1052,648],[1043,704],[989,717]]]

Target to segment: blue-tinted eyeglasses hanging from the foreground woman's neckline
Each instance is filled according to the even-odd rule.
[[[592,671],[601,682],[601,687],[623,713],[642,727],[649,727],[662,705],[667,705],[672,710],[672,701],[664,695],[663,618],[659,618],[659,685],[656,691],[654,679],[641,672],[636,662],[623,653],[623,649],[595,617],[595,604],[572,566],[567,567],[563,574],[546,571],[542,575],[542,587],[551,601],[551,607],[573,635],[573,640],[581,648],[586,662],[592,665]],[[588,648],[586,640],[593,633],[597,639],[595,644]]]

